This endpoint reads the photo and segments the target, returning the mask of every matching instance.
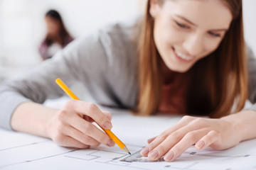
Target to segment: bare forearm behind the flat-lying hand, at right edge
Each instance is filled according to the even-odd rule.
[[[256,137],[256,111],[240,111],[240,113],[227,115],[221,119],[234,123],[241,141]]]

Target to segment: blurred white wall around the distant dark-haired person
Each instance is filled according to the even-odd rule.
[[[48,9],[59,11],[77,38],[107,23],[136,16],[142,12],[142,1],[0,0],[0,74],[12,76],[41,62],[38,45],[46,33],[44,15]]]

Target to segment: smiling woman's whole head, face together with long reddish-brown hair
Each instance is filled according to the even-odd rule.
[[[176,76],[183,82],[178,94],[183,94],[183,112],[220,118],[230,113],[238,97],[237,111],[243,108],[247,70],[241,10],[238,1],[148,3],[139,62],[139,113],[157,111],[165,94],[161,79],[168,84],[174,72],[183,73]],[[164,67],[171,71],[163,74]]]

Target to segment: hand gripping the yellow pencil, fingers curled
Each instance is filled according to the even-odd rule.
[[[114,141],[92,124],[94,121],[106,130],[112,128],[111,113],[100,111],[93,103],[70,100],[50,118],[48,136],[62,147],[114,146]]]

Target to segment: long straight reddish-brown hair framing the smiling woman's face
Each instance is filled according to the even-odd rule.
[[[159,5],[165,0],[159,0]],[[240,111],[247,99],[247,67],[242,22],[242,0],[223,0],[233,14],[233,21],[215,52],[196,62],[186,73],[187,113],[220,118]],[[139,115],[156,113],[161,99],[161,57],[154,44],[154,18],[149,13],[150,0],[139,41],[139,95],[135,111]],[[235,109],[233,110],[233,104]]]

